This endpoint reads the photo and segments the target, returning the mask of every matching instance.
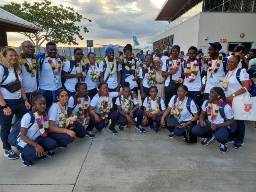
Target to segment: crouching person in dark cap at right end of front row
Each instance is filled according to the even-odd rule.
[[[201,142],[203,146],[209,145],[216,138],[220,143],[220,152],[227,153],[228,129],[234,124],[234,114],[231,107],[221,98],[223,94],[224,91],[220,87],[211,88],[209,100],[203,102],[199,124],[193,127],[192,134],[205,138]]]

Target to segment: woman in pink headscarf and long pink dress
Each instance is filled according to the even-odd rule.
[[[153,69],[156,71],[155,85],[158,89],[158,96],[164,100],[164,83],[166,78],[162,77],[162,66],[163,62],[160,57],[153,59]]]

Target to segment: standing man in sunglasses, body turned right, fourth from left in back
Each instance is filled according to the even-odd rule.
[[[75,95],[75,84],[78,81],[83,81],[85,76],[85,66],[83,66],[83,50],[76,48],[74,50],[74,60],[70,59],[65,64],[61,71],[61,77],[64,78],[64,86],[68,91],[68,96]],[[63,81],[63,80],[62,80]]]

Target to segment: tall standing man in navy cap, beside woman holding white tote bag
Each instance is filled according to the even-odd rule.
[[[206,68],[203,72],[206,75],[205,92],[203,93],[203,101],[208,100],[211,88],[220,86],[220,79],[224,78],[227,70],[227,57],[223,57],[220,52],[222,46],[219,42],[209,43],[208,54],[206,60]]]

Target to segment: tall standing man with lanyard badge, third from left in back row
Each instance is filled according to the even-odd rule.
[[[57,45],[54,42],[46,43],[45,58],[41,57],[39,91],[46,99],[46,109],[55,101],[56,91],[62,87],[62,61],[57,55]]]

